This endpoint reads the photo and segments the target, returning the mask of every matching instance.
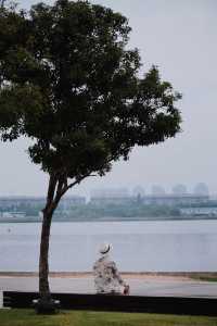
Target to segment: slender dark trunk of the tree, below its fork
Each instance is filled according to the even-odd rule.
[[[51,300],[49,287],[49,239],[51,228],[52,213],[43,211],[43,221],[40,241],[40,259],[39,259],[39,293],[42,301]]]

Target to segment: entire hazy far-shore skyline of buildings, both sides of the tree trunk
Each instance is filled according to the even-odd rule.
[[[179,209],[184,216],[217,216],[217,201],[209,198],[208,187],[197,184],[192,192],[188,192],[184,185],[176,185],[168,193],[162,186],[153,186],[151,193],[145,193],[143,187],[138,186],[129,191],[128,188],[104,188],[91,191],[89,200],[81,196],[65,197],[59,205],[62,213],[69,214],[71,210],[79,205],[125,205],[138,202],[143,205],[164,205]],[[42,197],[0,197],[0,221],[25,217],[24,213],[43,208],[46,199]]]

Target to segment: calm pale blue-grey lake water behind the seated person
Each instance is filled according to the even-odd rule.
[[[37,271],[40,224],[0,224],[0,271]],[[127,272],[216,272],[217,221],[53,223],[50,271],[91,271],[101,242]]]

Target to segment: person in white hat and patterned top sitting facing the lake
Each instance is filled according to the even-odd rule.
[[[93,265],[94,286],[99,294],[129,294],[129,286],[119,275],[115,262],[110,260],[112,246],[104,243],[100,248],[100,259]]]

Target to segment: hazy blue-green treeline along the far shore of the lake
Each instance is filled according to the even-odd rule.
[[[186,205],[187,206],[187,205]],[[191,208],[194,204],[189,205]],[[197,208],[217,206],[216,201],[209,201],[207,203],[197,203]],[[133,218],[184,218],[181,214],[180,206],[159,205],[159,204],[144,204],[140,201],[131,201],[125,203],[101,203],[93,204],[91,202],[86,204],[74,204],[71,206],[60,205],[54,214],[55,221],[100,221],[100,220],[133,220]],[[15,204],[0,206],[0,222],[36,222],[41,221],[39,212],[41,211],[41,203],[20,203],[18,206]],[[16,212],[21,213],[21,216],[16,216]],[[12,213],[11,217],[8,218],[7,214]],[[14,216],[13,216],[14,213]],[[10,215],[10,214],[9,214]]]

